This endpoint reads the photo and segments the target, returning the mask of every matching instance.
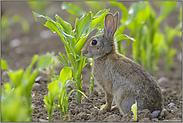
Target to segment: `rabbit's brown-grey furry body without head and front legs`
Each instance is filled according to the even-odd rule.
[[[97,63],[98,62],[98,63]],[[109,93],[113,93],[118,107],[131,114],[135,100],[138,109],[162,109],[162,95],[153,77],[139,64],[121,54],[109,54],[95,61],[93,74],[96,81]]]

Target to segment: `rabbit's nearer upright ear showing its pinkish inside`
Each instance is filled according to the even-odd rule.
[[[114,18],[112,14],[107,14],[104,20],[104,35],[106,37],[113,36]]]

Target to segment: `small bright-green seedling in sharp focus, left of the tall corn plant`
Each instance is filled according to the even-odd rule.
[[[66,116],[68,111],[68,99],[70,94],[74,91],[71,90],[67,94],[67,87],[72,83],[72,68],[64,67],[60,76],[55,76],[52,82],[48,84],[48,96],[44,96],[44,102],[47,105],[46,110],[48,111],[49,121],[51,121],[52,113],[57,107],[60,111],[60,117],[63,121],[63,114]],[[55,100],[58,99],[58,104]]]

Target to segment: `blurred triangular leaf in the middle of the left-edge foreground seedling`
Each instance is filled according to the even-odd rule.
[[[20,85],[23,72],[24,72],[23,69],[19,69],[19,70],[16,70],[16,71],[9,71],[8,72],[8,76],[10,78],[10,81],[11,81],[11,83],[13,84],[13,86],[15,88]]]

